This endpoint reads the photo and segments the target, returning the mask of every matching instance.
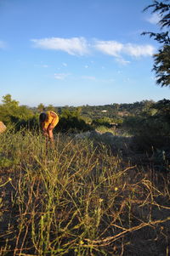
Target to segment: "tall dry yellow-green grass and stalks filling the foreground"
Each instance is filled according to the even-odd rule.
[[[0,139],[0,255],[169,255],[168,173],[68,134]]]

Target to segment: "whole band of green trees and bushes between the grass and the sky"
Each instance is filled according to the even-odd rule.
[[[170,100],[143,100],[133,104],[99,105],[82,107],[55,107],[59,114],[59,123],[54,132],[89,131],[94,128],[113,128],[117,134],[131,134],[140,149],[146,151],[166,148],[170,143]],[[57,110],[60,110],[58,112]],[[105,110],[105,111],[104,111]],[[34,112],[33,112],[34,111]],[[92,117],[94,111],[96,116]],[[86,115],[83,113],[86,112]],[[0,105],[0,121],[5,125],[14,124],[15,131],[26,128],[33,131],[39,129],[39,111],[20,106],[7,94]],[[86,120],[86,122],[85,122]],[[88,123],[90,120],[91,124]],[[123,123],[122,123],[123,122]]]

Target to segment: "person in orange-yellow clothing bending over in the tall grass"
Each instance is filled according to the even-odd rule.
[[[47,138],[46,144],[48,143],[48,139],[51,144],[54,146],[54,127],[59,122],[59,117],[54,111],[42,112],[39,116],[40,128],[42,128],[42,132],[44,136]]]

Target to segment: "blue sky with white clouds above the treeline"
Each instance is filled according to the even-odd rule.
[[[152,0],[0,0],[0,102],[107,105],[162,100]]]

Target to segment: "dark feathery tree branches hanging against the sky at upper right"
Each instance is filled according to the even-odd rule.
[[[170,86],[170,3],[169,0],[156,1],[147,6],[145,10],[152,9],[152,13],[160,16],[158,25],[163,32],[143,32],[149,34],[157,42],[161,43],[161,48],[157,54],[154,54],[153,71],[156,72],[156,83],[163,86]],[[167,31],[166,31],[167,30]]]

